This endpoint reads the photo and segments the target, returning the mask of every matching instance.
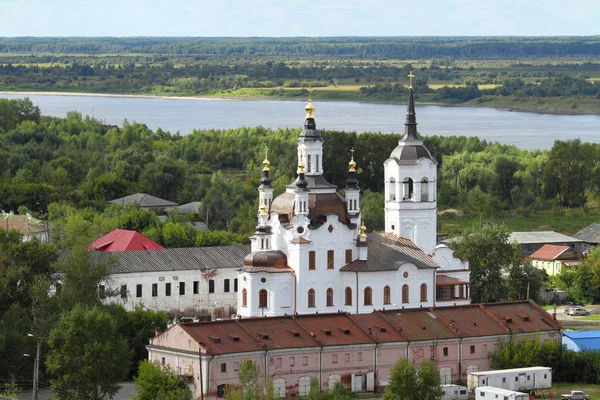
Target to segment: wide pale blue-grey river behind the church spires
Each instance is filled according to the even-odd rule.
[[[23,94],[0,94],[22,98]],[[40,95],[27,97],[42,114],[64,117],[79,111],[107,124],[130,122],[162,128],[182,135],[193,129],[228,129],[262,125],[267,128],[298,128],[304,121],[306,101],[171,99],[159,97],[112,97]],[[406,105],[353,101],[315,101],[320,129],[399,133],[404,130]],[[477,136],[522,149],[550,149],[555,140],[579,138],[600,143],[600,115],[552,115],[509,112],[484,107],[418,105],[418,130],[422,135]]]

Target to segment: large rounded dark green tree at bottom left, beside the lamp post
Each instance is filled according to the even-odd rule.
[[[115,319],[100,307],[77,305],[52,329],[46,359],[58,400],[112,397],[127,376],[131,352]]]

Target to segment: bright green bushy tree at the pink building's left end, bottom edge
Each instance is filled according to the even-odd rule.
[[[192,392],[183,379],[168,366],[148,360],[140,363],[139,374],[133,380],[136,394],[133,400],[192,400]]]

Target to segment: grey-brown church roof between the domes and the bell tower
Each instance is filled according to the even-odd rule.
[[[368,235],[369,255],[366,261],[356,260],[340,271],[377,272],[397,271],[402,264],[413,263],[419,269],[437,268],[439,265],[416,244],[394,233]]]

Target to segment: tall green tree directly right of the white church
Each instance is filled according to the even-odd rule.
[[[502,276],[521,262],[519,245],[509,243],[508,237],[509,232],[504,225],[476,224],[466,229],[452,244],[458,258],[469,260],[471,299],[474,303],[506,299]]]

